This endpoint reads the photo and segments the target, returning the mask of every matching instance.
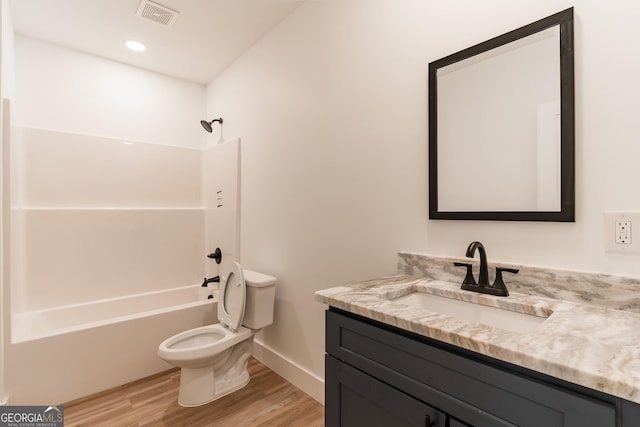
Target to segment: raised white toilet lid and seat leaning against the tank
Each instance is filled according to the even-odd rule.
[[[232,331],[242,323],[246,292],[242,267],[237,262],[228,264],[218,293],[218,320]]]

